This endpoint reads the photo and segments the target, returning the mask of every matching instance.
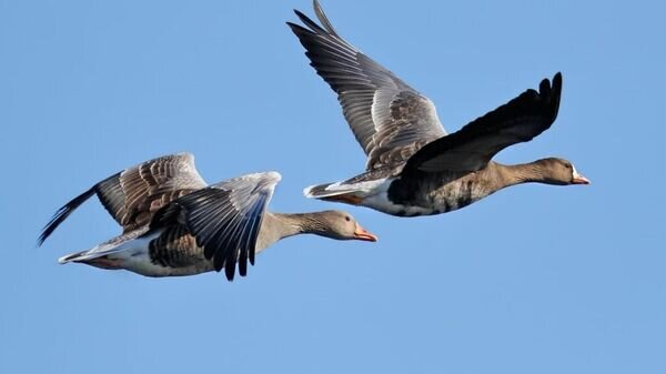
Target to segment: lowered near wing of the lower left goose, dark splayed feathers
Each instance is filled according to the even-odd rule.
[[[248,174],[192,192],[159,211],[151,230],[184,225],[216,271],[224,267],[231,281],[238,261],[244,276],[248,260],[254,264],[259,230],[280,179],[276,172]]]

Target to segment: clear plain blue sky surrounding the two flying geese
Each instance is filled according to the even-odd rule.
[[[364,165],[284,24],[310,1],[0,1],[0,372],[665,373],[664,6],[323,7],[448,131],[562,71],[553,128],[496,159],[593,184],[420,219],[305,200]],[[233,283],[59,265],[118,233],[91,200],[36,249],[71,198],[181,151],[209,182],[278,170],[272,210],[343,208],[380,242],[287,239]]]

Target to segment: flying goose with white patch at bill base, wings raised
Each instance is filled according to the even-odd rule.
[[[562,73],[448,134],[428,98],[340,37],[319,1],[313,6],[321,26],[299,10],[294,12],[303,26],[286,23],[310,64],[337,93],[367,161],[365,172],[306,188],[305,196],[418,216],[451,212],[519,183],[589,183],[564,159],[516,165],[492,161],[553,124]]]

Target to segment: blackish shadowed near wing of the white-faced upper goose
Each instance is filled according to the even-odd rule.
[[[553,84],[544,79],[506,104],[436,140],[414,154],[403,173],[412,171],[476,171],[503,149],[532,140],[555,121],[562,94],[562,73]]]

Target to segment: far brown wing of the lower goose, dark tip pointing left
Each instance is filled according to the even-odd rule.
[[[129,232],[148,223],[154,212],[172,200],[193,190],[206,186],[190,153],[165,155],[140,163],[97,183],[72,201],[64,204],[44,226],[38,244],[51,233],[77,208],[93,194],[102,205]]]

